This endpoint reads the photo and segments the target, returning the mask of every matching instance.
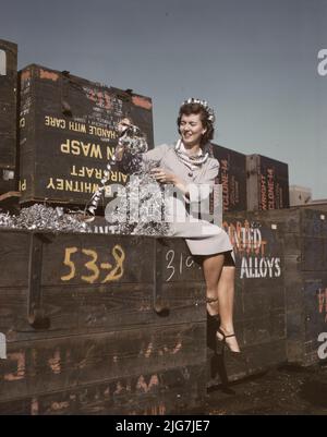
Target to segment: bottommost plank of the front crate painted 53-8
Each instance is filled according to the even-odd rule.
[[[203,412],[205,396],[205,367],[191,364],[0,402],[0,414],[191,414]]]

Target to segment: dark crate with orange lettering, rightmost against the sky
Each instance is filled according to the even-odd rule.
[[[289,208],[288,165],[262,155],[246,157],[247,210]]]

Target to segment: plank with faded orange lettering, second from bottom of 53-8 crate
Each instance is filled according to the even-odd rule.
[[[0,361],[0,399],[140,377],[190,363],[203,367],[205,362],[204,323],[12,342],[8,359]]]

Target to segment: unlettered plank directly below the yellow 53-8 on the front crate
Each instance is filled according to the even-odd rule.
[[[7,289],[0,293],[0,332],[11,341],[37,340],[144,326],[168,326],[201,321],[204,317],[204,288],[193,283],[164,287],[167,314],[157,314],[153,284],[121,284],[108,290],[89,287],[43,289],[43,309],[48,329],[35,330],[27,319],[28,290]]]

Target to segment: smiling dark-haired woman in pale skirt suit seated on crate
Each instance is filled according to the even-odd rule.
[[[190,220],[193,216],[190,214],[192,205],[208,197],[219,171],[218,160],[209,156],[214,122],[214,111],[206,101],[189,99],[180,108],[178,143],[174,146],[155,147],[143,154],[143,161],[154,161],[157,167],[150,172],[156,181],[173,185],[181,194],[180,198],[170,196],[166,219],[172,224],[172,235],[185,238],[192,255],[201,256],[207,289],[207,311],[210,316],[220,316],[217,341],[237,354],[240,348],[232,318],[235,274],[233,247],[221,228],[195,216]],[[119,150],[117,157],[121,159]]]

